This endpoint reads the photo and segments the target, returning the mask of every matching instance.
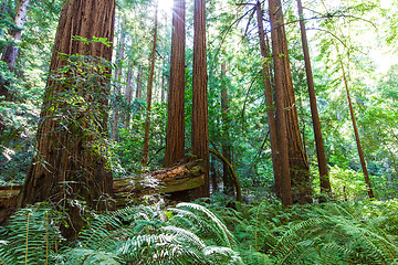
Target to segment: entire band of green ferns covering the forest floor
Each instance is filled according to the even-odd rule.
[[[1,227],[0,264],[398,264],[397,213],[397,200],[129,206],[92,213],[71,243],[36,204]]]

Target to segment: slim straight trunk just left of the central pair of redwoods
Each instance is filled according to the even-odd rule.
[[[150,70],[147,86],[147,116],[145,120],[145,136],[144,136],[144,150],[143,150],[143,166],[146,167],[148,163],[148,149],[149,149],[149,127],[150,127],[150,109],[151,109],[151,95],[154,86],[154,74],[155,74],[155,60],[156,60],[156,42],[157,42],[157,30],[158,30],[158,1],[155,2],[155,28],[154,28],[154,44],[150,54]]]

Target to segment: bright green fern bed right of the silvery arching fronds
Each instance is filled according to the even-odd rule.
[[[233,227],[247,264],[396,264],[396,200],[283,209],[264,201],[216,213]]]

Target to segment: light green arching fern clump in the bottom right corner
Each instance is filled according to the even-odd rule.
[[[307,219],[265,232],[262,242],[275,264],[395,264],[396,235],[364,219],[360,205],[325,203],[306,209]],[[276,243],[276,244],[275,244]]]

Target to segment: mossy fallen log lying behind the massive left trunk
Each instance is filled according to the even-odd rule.
[[[123,206],[134,199],[150,194],[171,194],[191,190],[205,184],[205,163],[202,160],[182,161],[179,165],[151,171],[137,177],[115,179],[114,199]],[[0,187],[0,223],[3,216],[14,210],[17,197],[22,186]]]

